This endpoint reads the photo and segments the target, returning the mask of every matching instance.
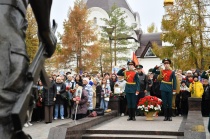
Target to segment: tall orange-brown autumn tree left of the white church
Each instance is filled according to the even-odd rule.
[[[92,21],[88,20],[89,12],[82,0],[76,0],[70,9],[68,19],[64,21],[64,34],[61,36],[62,50],[58,54],[60,65],[74,61],[76,57],[77,71],[90,70],[97,66],[97,40]]]

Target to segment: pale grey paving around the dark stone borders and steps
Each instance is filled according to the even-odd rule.
[[[173,117],[173,121],[163,122],[163,117],[155,117],[154,121],[145,121],[145,117],[137,116],[137,121],[127,121],[127,116],[117,117],[110,122],[102,123],[92,129],[109,129],[109,130],[141,130],[141,131],[178,131],[182,122],[182,117]],[[205,129],[207,129],[208,118],[204,117]],[[33,139],[47,139],[51,127],[59,126],[66,123],[74,123],[71,119],[53,120],[50,124],[44,122],[34,122],[33,126],[23,128],[23,130],[30,134]],[[206,139],[210,139],[208,131],[206,131]]]

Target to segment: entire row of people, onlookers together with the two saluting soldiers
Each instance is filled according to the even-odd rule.
[[[96,108],[106,112],[110,98],[116,96],[120,101],[120,115],[128,115],[128,121],[144,115],[137,109],[137,103],[146,95],[163,100],[159,115],[165,116],[164,121],[172,121],[173,116],[186,116],[189,97],[202,98],[202,115],[209,116],[210,70],[172,70],[170,59],[164,59],[162,63],[164,66],[155,66],[147,74],[143,65],[135,65],[133,61],[127,63],[128,69],[112,74],[54,73],[49,77],[51,88],[43,87],[41,81],[34,87],[35,105],[31,106],[24,126],[32,125],[32,120],[45,120],[45,123],[51,123],[52,119],[78,120]]]

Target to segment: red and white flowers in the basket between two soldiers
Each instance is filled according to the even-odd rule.
[[[155,96],[145,96],[137,104],[137,108],[143,112],[161,111],[162,100]]]

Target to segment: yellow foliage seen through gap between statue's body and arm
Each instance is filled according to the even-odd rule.
[[[26,19],[28,20],[28,28],[26,30],[26,49],[30,62],[32,62],[38,50],[39,40],[37,36],[36,19],[30,6],[27,9]]]

